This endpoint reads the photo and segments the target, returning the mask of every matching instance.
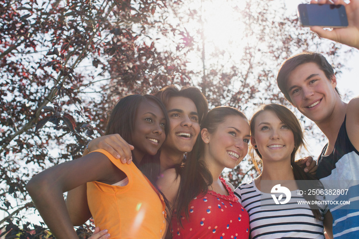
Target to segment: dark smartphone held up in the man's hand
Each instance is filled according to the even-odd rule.
[[[348,18],[343,5],[300,4],[298,15],[303,27],[347,27]]]

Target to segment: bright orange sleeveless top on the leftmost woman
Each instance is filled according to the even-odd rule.
[[[122,164],[105,150],[109,160],[128,177],[123,187],[101,182],[87,183],[87,200],[96,227],[111,238],[161,238],[166,210],[161,194],[133,164]]]

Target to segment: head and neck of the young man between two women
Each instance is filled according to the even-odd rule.
[[[154,94],[161,99],[170,119],[170,130],[161,148],[161,171],[180,165],[183,155],[192,151],[200,133],[200,124],[207,115],[208,103],[196,87],[167,86]]]

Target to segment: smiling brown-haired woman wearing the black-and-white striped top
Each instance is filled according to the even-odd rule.
[[[304,146],[302,128],[295,115],[282,105],[264,105],[252,116],[250,128],[252,162],[261,174],[251,183],[241,184],[235,194],[249,213],[251,238],[324,238],[323,220],[331,235],[331,215],[327,207],[298,204],[298,201],[324,198],[297,193],[308,184],[315,187],[319,181],[294,162],[298,149]],[[255,154],[262,161],[262,171]],[[301,180],[307,184],[301,184]],[[271,193],[283,187],[287,187],[291,195],[286,197],[288,201],[282,202],[285,205],[276,205]]]

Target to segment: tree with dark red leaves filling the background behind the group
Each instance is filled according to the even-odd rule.
[[[27,218],[35,210],[27,181],[81,156],[86,143],[103,134],[119,97],[169,84],[194,85],[211,107],[230,105],[246,113],[260,103],[284,103],[275,75],[288,56],[341,51],[335,44],[321,46],[315,35],[298,28],[296,16],[278,18],[285,5],[274,8],[272,2],[233,6],[245,23],[243,54],[234,57],[206,39],[209,16],[193,7],[198,1],[2,1],[0,236],[49,236]],[[191,31],[190,22],[196,23]],[[249,166],[226,176],[236,186],[254,173]]]

